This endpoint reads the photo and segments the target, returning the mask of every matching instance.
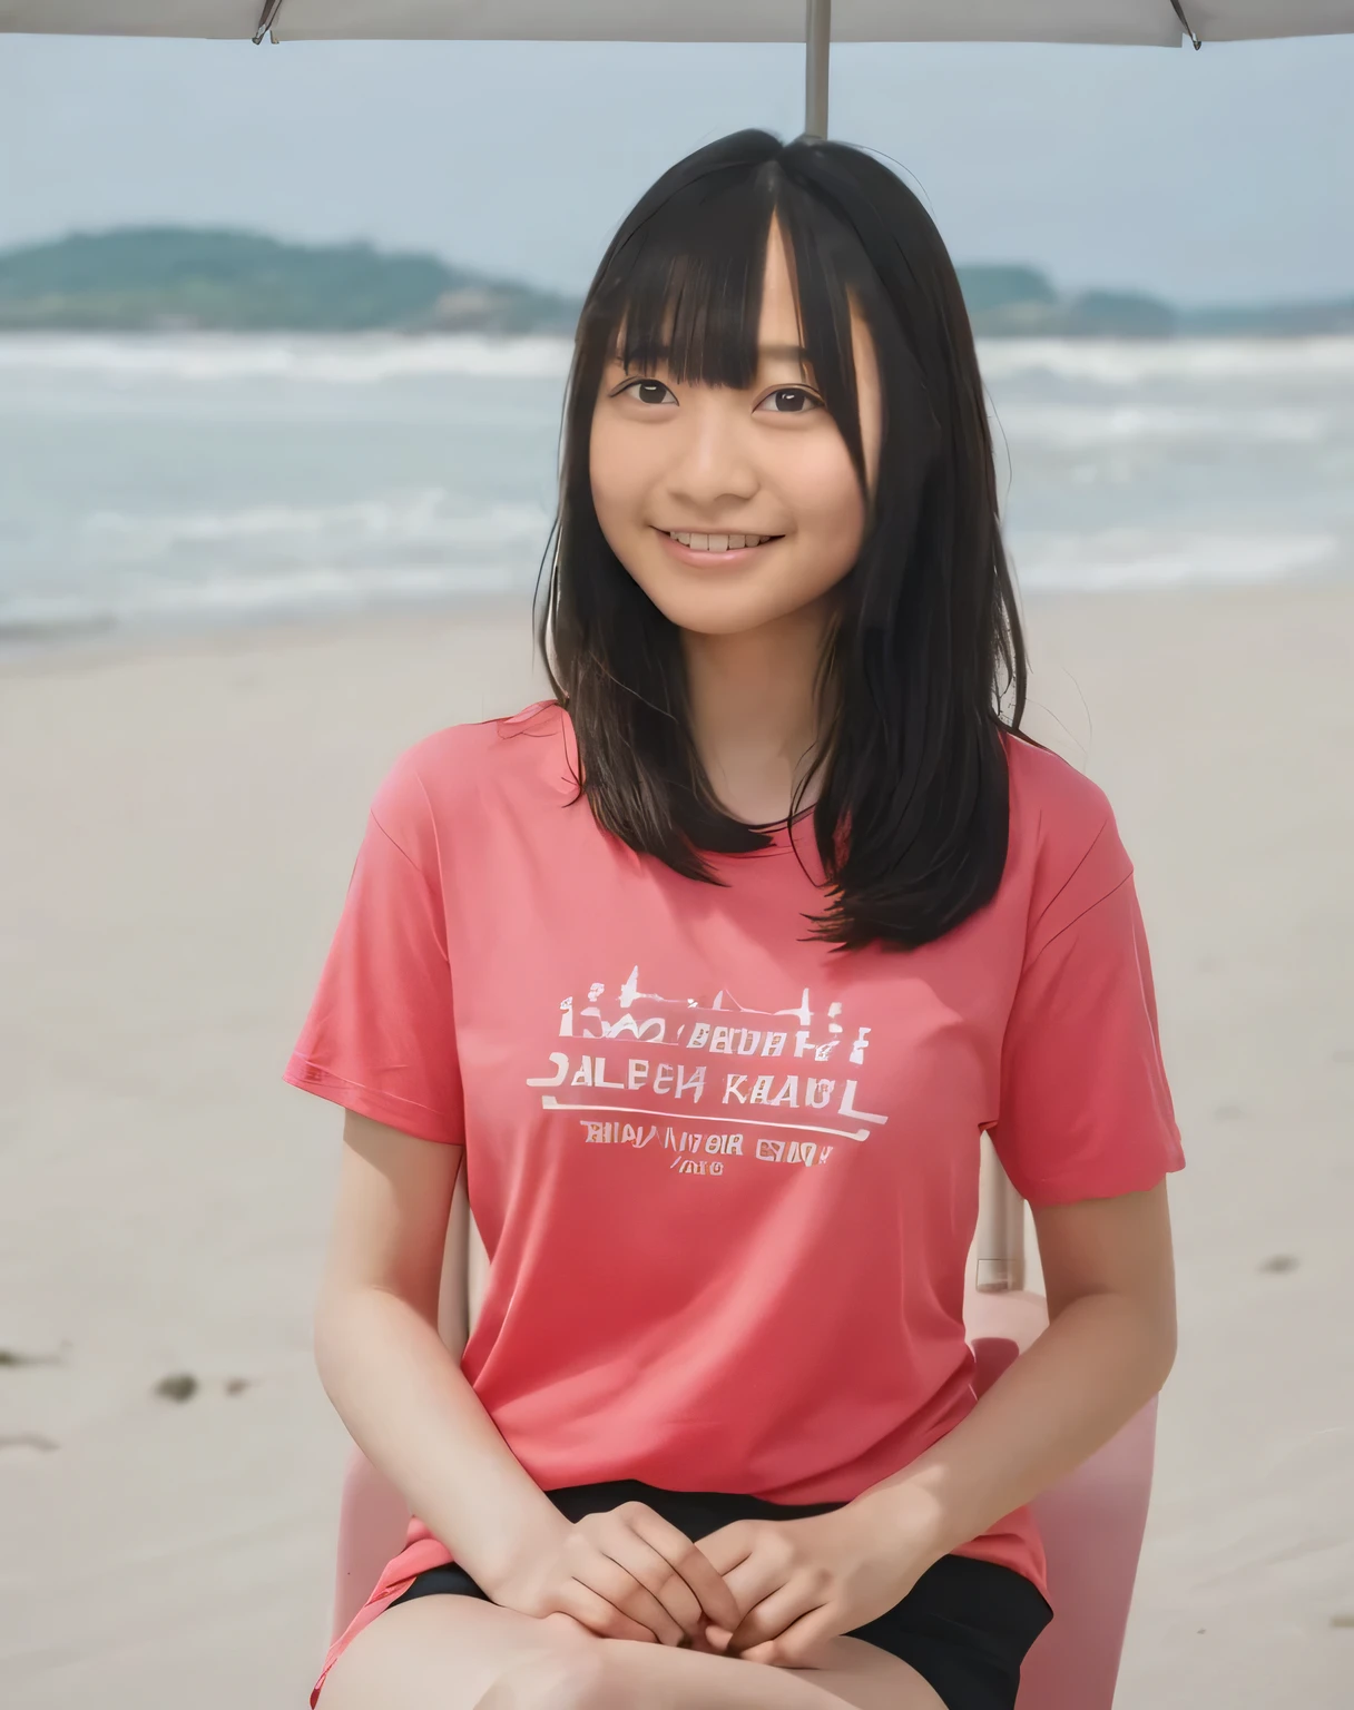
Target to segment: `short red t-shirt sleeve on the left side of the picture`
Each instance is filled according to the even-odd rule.
[[[409,754],[373,800],[284,1079],[419,1139],[462,1139],[436,829]]]

